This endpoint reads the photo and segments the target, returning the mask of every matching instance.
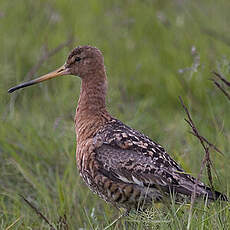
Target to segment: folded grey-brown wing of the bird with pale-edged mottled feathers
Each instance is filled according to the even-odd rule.
[[[110,179],[192,194],[195,178],[186,174],[160,145],[122,122],[114,119],[107,124],[95,136],[95,143],[99,170]],[[205,193],[205,185],[198,182],[197,194]]]

